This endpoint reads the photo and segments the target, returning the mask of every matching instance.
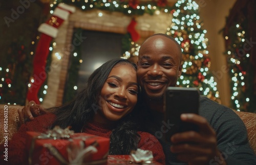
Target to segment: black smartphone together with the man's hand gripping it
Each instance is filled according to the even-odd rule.
[[[164,97],[165,121],[173,124],[165,133],[172,142],[170,151],[188,164],[209,164],[216,157],[226,164],[217,148],[217,137],[207,120],[198,115],[199,91],[195,88],[168,87]]]

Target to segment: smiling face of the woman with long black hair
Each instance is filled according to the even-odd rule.
[[[101,92],[101,109],[94,117],[100,123],[117,121],[131,113],[137,103],[136,70],[130,64],[117,64],[106,79]]]

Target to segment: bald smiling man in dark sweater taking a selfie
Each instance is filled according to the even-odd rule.
[[[138,121],[161,142],[166,164],[256,164],[242,120],[230,108],[203,96],[199,115],[181,115],[182,121],[197,124],[200,131],[177,133],[171,143],[166,142],[162,127],[172,128],[163,121],[163,95],[167,87],[176,86],[181,75],[181,47],[174,38],[155,34],[142,43],[138,58],[137,76],[142,88]]]

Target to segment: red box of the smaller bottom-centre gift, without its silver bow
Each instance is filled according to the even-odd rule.
[[[156,161],[136,163],[132,161],[131,155],[109,155],[108,165],[114,164],[154,164],[159,165],[161,163]]]

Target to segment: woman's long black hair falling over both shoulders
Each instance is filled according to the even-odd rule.
[[[119,64],[130,64],[135,70],[137,69],[135,64],[125,59],[114,59],[104,63],[91,74],[86,88],[78,93],[74,100],[60,107],[49,109],[57,116],[52,128],[56,125],[61,128],[71,126],[75,132],[80,132],[84,124],[91,121],[95,113],[99,111],[100,91],[112,68]],[[127,115],[112,130],[110,154],[130,154],[131,150],[138,148],[139,140],[140,136],[137,133],[136,123],[132,120],[131,115]]]

